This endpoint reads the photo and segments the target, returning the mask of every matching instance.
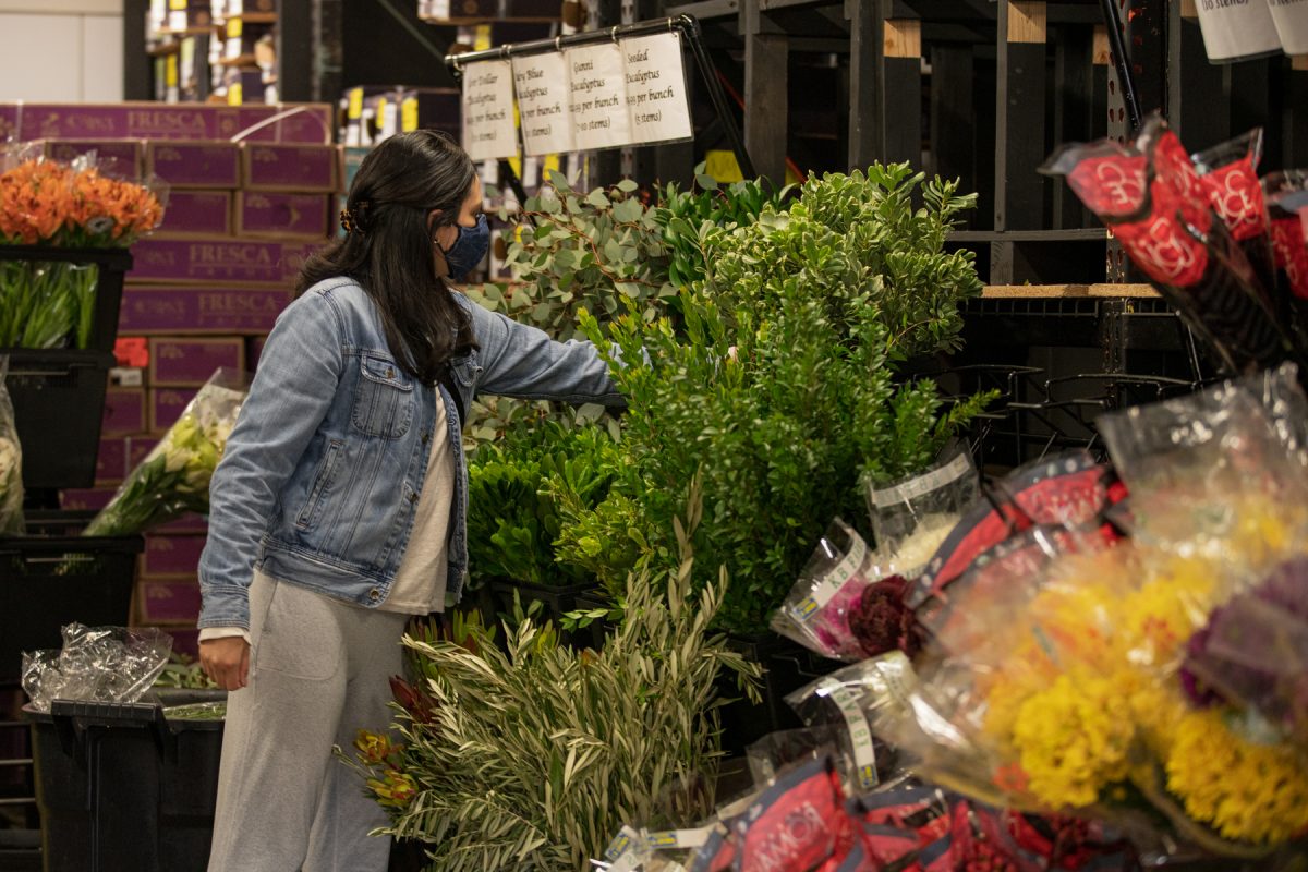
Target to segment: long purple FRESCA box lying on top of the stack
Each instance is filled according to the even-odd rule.
[[[230,140],[327,143],[327,103],[218,106],[209,103],[9,103],[17,139]],[[3,111],[3,110],[0,110]],[[276,120],[272,120],[276,119]]]

